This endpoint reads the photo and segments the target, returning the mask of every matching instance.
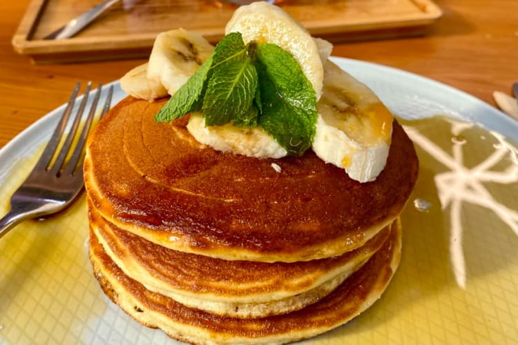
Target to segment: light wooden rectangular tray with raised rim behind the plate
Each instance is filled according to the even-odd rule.
[[[123,0],[75,37],[47,34],[101,0],[32,0],[12,38],[35,63],[147,57],[158,32],[186,28],[215,42],[235,6],[213,0]],[[311,34],[330,41],[423,34],[442,14],[430,0],[284,0],[280,6]]]

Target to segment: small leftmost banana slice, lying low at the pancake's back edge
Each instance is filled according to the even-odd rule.
[[[153,101],[167,95],[167,90],[160,80],[147,77],[148,63],[133,68],[120,79],[120,87],[128,95]]]

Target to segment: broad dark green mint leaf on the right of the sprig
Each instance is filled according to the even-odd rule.
[[[294,57],[275,44],[257,46],[256,68],[262,103],[258,124],[289,155],[303,155],[313,141],[317,117],[311,83]]]

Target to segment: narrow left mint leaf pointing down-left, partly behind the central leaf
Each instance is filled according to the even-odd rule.
[[[179,88],[155,115],[156,122],[169,122],[188,112],[202,108],[203,93],[209,79],[212,58],[205,61],[200,68]]]

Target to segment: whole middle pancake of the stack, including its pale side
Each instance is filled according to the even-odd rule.
[[[316,302],[363,266],[391,231],[384,228],[338,257],[289,264],[227,261],[158,246],[108,223],[88,206],[92,235],[125,275],[191,308],[240,318],[289,313]]]

